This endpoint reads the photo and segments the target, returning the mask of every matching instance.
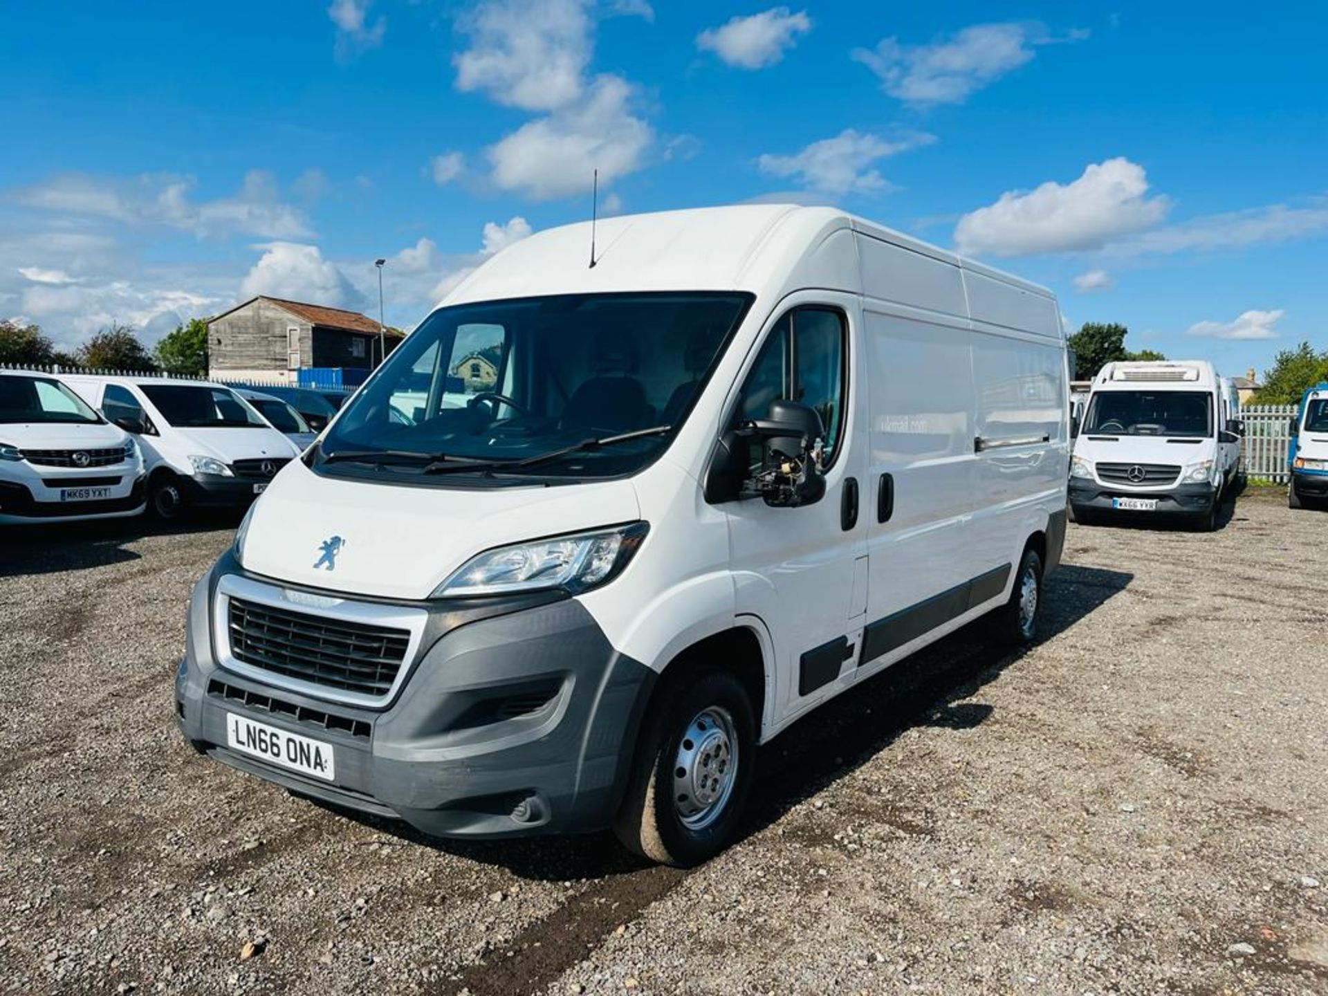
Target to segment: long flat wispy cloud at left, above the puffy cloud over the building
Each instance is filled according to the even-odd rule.
[[[104,179],[66,173],[17,190],[15,199],[81,219],[178,228],[199,238],[242,234],[290,239],[309,234],[303,214],[282,202],[264,170],[250,170],[235,194],[215,201],[193,201],[195,186],[193,177],[174,174]]]

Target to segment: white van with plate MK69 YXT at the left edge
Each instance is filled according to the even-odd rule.
[[[0,371],[0,523],[138,515],[143,459],[53,374]]]

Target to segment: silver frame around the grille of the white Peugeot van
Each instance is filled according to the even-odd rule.
[[[236,659],[235,651],[231,647],[230,629],[232,598],[240,602],[268,606],[283,612],[327,619],[331,623],[349,623],[352,625],[406,631],[409,639],[405,655],[401,659],[401,667],[397,669],[392,687],[382,695],[365,695],[363,692],[276,673],[259,664]],[[236,675],[243,675],[254,681],[262,681],[264,685],[272,688],[284,688],[291,692],[307,695],[311,699],[344,703],[369,709],[385,708],[401,689],[412,664],[414,664],[420,653],[420,644],[424,639],[424,629],[428,620],[429,614],[422,608],[384,606],[373,602],[357,602],[340,595],[305,592],[234,574],[224,575],[216,583],[216,594],[212,598],[212,639],[216,644],[216,663],[222,668]]]

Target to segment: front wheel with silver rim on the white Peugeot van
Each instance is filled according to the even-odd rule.
[[[732,673],[705,668],[664,688],[651,713],[614,831],[651,861],[700,865],[733,841],[752,789],[752,700]]]

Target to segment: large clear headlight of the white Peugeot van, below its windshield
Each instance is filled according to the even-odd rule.
[[[572,594],[588,591],[622,574],[647,530],[644,522],[633,522],[487,550],[434,588],[433,598],[511,595],[548,588]]]

